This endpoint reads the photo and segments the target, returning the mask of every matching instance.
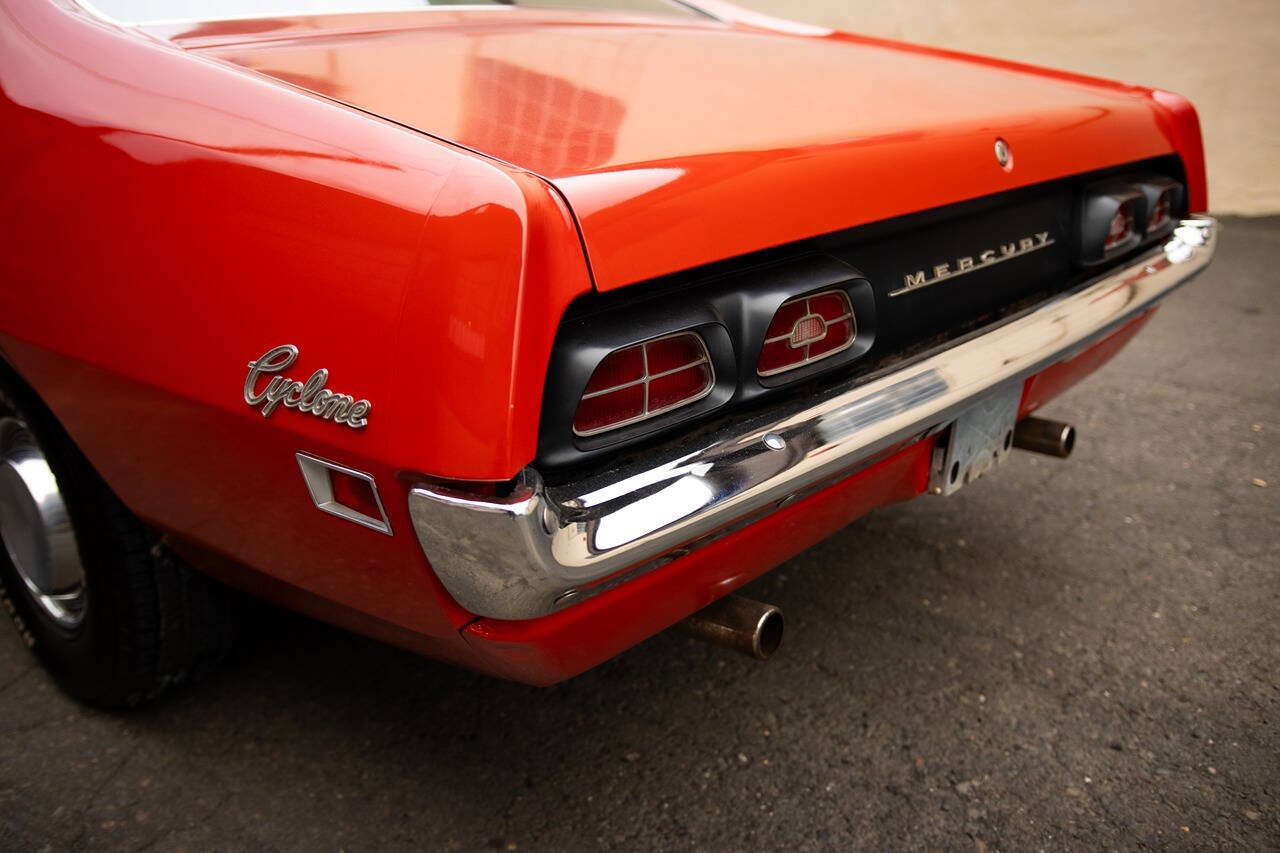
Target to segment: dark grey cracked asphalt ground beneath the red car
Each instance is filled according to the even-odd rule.
[[[677,633],[524,688],[270,611],[86,710],[0,633],[5,849],[1280,847],[1280,218],[1056,401],[1080,441],[872,514]],[[1257,483],[1266,483],[1260,485]]]

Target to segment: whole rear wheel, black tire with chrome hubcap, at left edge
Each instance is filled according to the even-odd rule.
[[[178,560],[29,393],[0,386],[0,594],[69,694],[128,707],[221,657],[232,593]]]

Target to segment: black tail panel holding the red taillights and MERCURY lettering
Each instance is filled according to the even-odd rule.
[[[535,464],[570,476],[951,346],[1166,240],[1183,177],[1155,158],[585,295],[552,348]],[[856,187],[833,191],[856,207]],[[681,334],[705,366],[689,341],[648,346]]]

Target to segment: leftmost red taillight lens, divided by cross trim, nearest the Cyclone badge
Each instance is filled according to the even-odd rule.
[[[594,435],[654,418],[701,400],[714,384],[707,345],[696,332],[614,350],[588,380],[573,432]]]

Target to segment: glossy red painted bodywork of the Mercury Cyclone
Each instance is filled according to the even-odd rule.
[[[422,557],[408,484],[530,462],[556,329],[593,274],[616,288],[1172,150],[1204,205],[1178,96],[716,5],[733,22],[498,9],[142,31],[0,0],[0,355],[131,508],[225,580],[509,678],[579,672],[916,494],[929,450],[554,616],[474,622]],[[247,406],[247,362],[282,343],[291,375],[325,368],[372,401],[367,426]],[[394,535],[319,512],[300,451],[372,474]]]

